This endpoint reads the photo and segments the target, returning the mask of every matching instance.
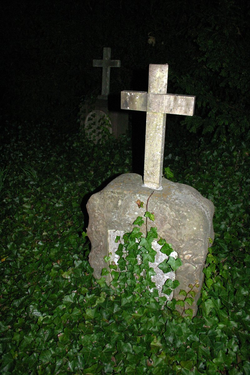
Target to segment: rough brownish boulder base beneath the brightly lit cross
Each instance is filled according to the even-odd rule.
[[[162,190],[155,190],[148,204],[148,210],[155,214],[151,226],[156,226],[159,236],[172,244],[183,263],[176,271],[180,286],[174,290],[174,297],[177,298],[180,289],[188,291],[188,285],[195,284],[196,280],[200,284],[195,303],[191,306],[195,315],[204,278],[202,270],[209,246],[208,237],[214,238],[214,205],[190,186],[163,178],[162,187]],[[88,200],[89,260],[96,278],[106,267],[103,257],[108,254],[108,230],[132,231],[133,221],[137,216],[144,216],[145,212],[135,202],[138,199],[147,202],[152,190],[143,185],[140,175],[129,173],[115,178]]]

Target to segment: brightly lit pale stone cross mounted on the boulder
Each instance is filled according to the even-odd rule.
[[[148,93],[122,91],[121,108],[147,111],[144,186],[162,190],[166,113],[192,116],[195,96],[167,94],[168,64],[149,66]]]

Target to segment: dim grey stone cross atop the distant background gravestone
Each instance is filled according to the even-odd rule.
[[[109,79],[110,79],[110,68],[120,68],[120,60],[110,60],[111,48],[103,48],[103,59],[93,60],[93,66],[102,68],[102,95],[98,96],[98,99],[108,99],[109,95]]]

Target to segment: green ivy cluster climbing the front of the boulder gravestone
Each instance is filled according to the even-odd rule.
[[[154,220],[154,214],[149,211],[146,211],[144,216],[149,217],[152,221]],[[159,291],[151,280],[151,276],[156,275],[151,264],[154,263],[156,255],[152,243],[158,237],[157,228],[151,227],[144,237],[141,232],[141,226],[144,224],[142,217],[138,216],[133,224],[139,225],[139,227],[134,227],[131,233],[125,233],[123,242],[121,242],[120,236],[116,237],[115,242],[120,242],[118,249],[115,251],[118,256],[117,264],[109,263],[110,270],[103,269],[102,276],[107,276],[110,273],[110,284],[114,288],[115,294],[125,300],[133,298],[135,302],[143,303],[146,306],[147,298],[150,297],[163,305],[166,302],[166,297],[160,297],[159,299]],[[173,249],[165,240],[160,239],[158,243],[162,245],[160,251],[168,255],[168,258],[159,264],[159,269],[164,273],[175,272],[181,266],[181,260],[170,256]],[[109,262],[110,259],[110,257],[105,257],[106,262]],[[103,286],[104,278],[97,282]],[[178,285],[177,280],[173,282],[167,279],[160,292],[169,295]],[[139,306],[137,306],[138,308]]]

